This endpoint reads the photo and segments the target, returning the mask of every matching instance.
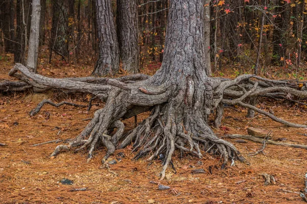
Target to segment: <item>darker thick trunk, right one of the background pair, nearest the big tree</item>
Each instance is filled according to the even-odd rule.
[[[117,0],[117,38],[122,69],[139,72],[139,36],[137,1]]]

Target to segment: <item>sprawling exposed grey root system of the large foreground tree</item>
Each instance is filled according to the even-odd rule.
[[[18,70],[21,73],[17,73]],[[16,64],[10,74],[25,80],[32,86],[48,86],[91,93],[105,101],[104,108],[95,112],[93,119],[84,130],[70,140],[68,145],[57,146],[51,157],[56,156],[60,151],[87,149],[89,152],[87,162],[89,162],[93,158],[95,148],[105,146],[107,152],[102,162],[106,163],[106,159],[114,154],[115,149],[124,148],[133,142],[133,151],[136,152],[135,160],[147,157],[147,161],[151,161],[160,154],[165,156],[162,162],[161,179],[164,178],[176,149],[181,154],[192,154],[199,158],[202,158],[203,154],[218,154],[224,160],[222,168],[229,160],[232,162],[236,159],[242,160],[235,146],[218,138],[207,123],[209,114],[215,111],[214,125],[221,125],[224,104],[249,108],[288,126],[307,127],[304,124],[282,120],[256,108],[256,105],[248,104],[252,98],[268,93],[290,93],[306,98],[307,92],[285,87],[284,83],[279,81],[265,81],[254,75],[242,75],[234,80],[207,78],[202,75],[192,78],[188,75],[176,81],[176,78],[162,80],[161,75],[167,74],[161,71],[144,81],[133,81],[140,77],[132,77],[128,81],[106,79],[103,84],[92,84],[88,82],[89,79],[74,81],[43,77],[29,72],[21,64]],[[261,81],[252,81],[252,78]],[[102,83],[98,79],[97,81]],[[278,86],[278,84],[281,85]],[[42,102],[42,104],[45,103],[49,103],[48,100]],[[59,104],[53,105],[59,106]],[[150,115],[135,129],[124,134],[125,127],[121,119],[133,117],[145,111],[150,111]],[[262,142],[262,139],[258,138],[258,140]],[[267,140],[266,143],[278,142]]]

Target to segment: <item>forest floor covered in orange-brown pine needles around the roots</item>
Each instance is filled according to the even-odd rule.
[[[0,61],[0,79],[11,79],[7,73],[13,66]],[[76,68],[73,66],[43,65],[39,73],[50,77],[72,77],[91,74],[93,66]],[[1,94],[1,93],[0,93]],[[65,99],[86,105],[89,99],[65,95],[63,92],[48,93],[3,93],[0,95],[0,203],[305,203],[297,192],[304,188],[307,171],[307,150],[277,145],[267,145],[263,154],[249,157],[261,147],[260,143],[233,142],[250,165],[236,161],[235,166],[221,169],[220,158],[205,155],[203,159],[185,155],[179,158],[176,152],[172,161],[177,174],[169,167],[168,179],[161,183],[176,189],[158,190],[149,181],[158,181],[161,161],[154,161],[149,167],[144,160],[131,161],[134,154],[131,146],[116,150],[126,156],[111,170],[101,168],[101,158],[105,149],[97,149],[90,163],[86,163],[86,151],[63,152],[56,158],[49,156],[59,143],[39,146],[33,144],[46,141],[73,138],[85,127],[93,113],[103,105],[94,106],[90,112],[86,108],[44,106],[37,116],[29,112],[43,98],[55,101]],[[258,107],[291,122],[306,123],[307,107],[287,104],[283,101],[262,101]],[[306,129],[296,129],[281,125],[271,119],[257,115],[250,119],[247,110],[226,108],[222,127],[213,129],[221,134],[247,134],[247,127],[257,127],[272,131],[273,140],[285,138],[287,143],[307,144]],[[138,116],[138,122],[146,116]],[[129,130],[134,127],[134,119],[124,121]],[[201,161],[201,162],[200,162]],[[193,169],[204,169],[205,173],[193,174]],[[261,173],[272,174],[276,184],[265,186]],[[62,179],[73,181],[73,185],[63,185]],[[73,188],[87,188],[86,191],[71,192]]]

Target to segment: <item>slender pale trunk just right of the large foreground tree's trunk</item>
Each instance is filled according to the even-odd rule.
[[[211,75],[211,57],[210,57],[210,0],[204,0],[204,47],[206,58],[206,74]]]

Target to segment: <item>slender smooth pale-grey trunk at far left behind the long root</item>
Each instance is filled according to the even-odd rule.
[[[39,20],[40,20],[40,0],[33,0],[27,67],[30,69],[30,71],[34,73],[36,72],[37,59],[38,59]]]

